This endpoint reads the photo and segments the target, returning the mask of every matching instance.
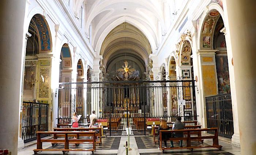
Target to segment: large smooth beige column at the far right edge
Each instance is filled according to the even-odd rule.
[[[256,154],[256,1],[224,0],[227,51],[231,50],[241,154]]]

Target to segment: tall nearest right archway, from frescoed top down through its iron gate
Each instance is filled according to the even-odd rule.
[[[207,127],[218,127],[219,135],[231,138],[234,133],[229,83],[229,64],[223,19],[213,9],[203,21],[200,33],[200,58],[203,96],[206,100],[204,116]],[[216,102],[213,102],[216,101]],[[213,116],[213,117],[211,117]]]

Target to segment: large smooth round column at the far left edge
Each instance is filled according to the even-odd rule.
[[[25,6],[25,0],[0,1],[0,117],[11,116],[0,125],[0,148],[10,149],[12,155],[18,150]]]

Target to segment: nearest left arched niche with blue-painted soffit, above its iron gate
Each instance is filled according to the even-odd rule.
[[[23,101],[36,99],[49,103],[52,61],[48,54],[52,52],[52,39],[48,23],[42,15],[35,14],[31,18],[26,39]],[[39,91],[36,92],[36,89]]]

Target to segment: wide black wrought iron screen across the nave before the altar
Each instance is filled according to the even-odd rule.
[[[94,110],[105,135],[125,135],[127,127],[131,127],[133,135],[148,135],[151,125],[159,125],[160,119],[171,123],[178,115],[184,121],[197,120],[193,80],[60,83],[58,91],[58,124],[71,123],[70,108],[76,103],[71,103],[73,93],[77,94],[76,101],[85,103],[81,127],[89,123]],[[178,100],[185,100],[185,105],[178,105]]]

